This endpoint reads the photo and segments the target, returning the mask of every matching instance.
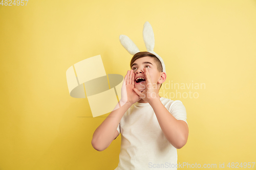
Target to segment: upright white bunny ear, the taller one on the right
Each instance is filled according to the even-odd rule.
[[[146,50],[148,52],[154,51],[155,37],[154,37],[153,28],[151,27],[150,22],[148,21],[144,23],[143,40],[146,45]]]

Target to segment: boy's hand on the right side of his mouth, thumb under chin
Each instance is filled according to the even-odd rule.
[[[143,68],[143,71],[146,78],[146,88],[142,92],[140,92],[137,88],[134,88],[133,90],[140,96],[141,99],[143,99],[143,101],[150,103],[155,99],[159,99],[159,89],[156,86],[153,86],[150,74],[148,73],[146,67]]]

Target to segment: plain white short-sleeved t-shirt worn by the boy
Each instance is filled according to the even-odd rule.
[[[176,119],[186,122],[186,109],[181,101],[163,97],[160,101]],[[117,130],[119,134],[121,131],[121,149],[115,170],[177,169],[177,149],[165,138],[149,103],[133,104]]]

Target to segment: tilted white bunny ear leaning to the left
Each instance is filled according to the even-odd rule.
[[[119,40],[123,47],[131,54],[135,55],[140,52],[139,48],[135,45],[135,43],[126,35],[120,35]]]

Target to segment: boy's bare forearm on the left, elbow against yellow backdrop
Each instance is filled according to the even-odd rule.
[[[120,123],[122,116],[130,107],[131,105],[126,103],[122,103],[120,108],[119,103],[116,105],[115,109],[95,130],[92,138],[92,145],[94,149],[98,151],[103,151],[109,147],[109,145],[113,141],[116,129],[118,127],[118,124]]]

